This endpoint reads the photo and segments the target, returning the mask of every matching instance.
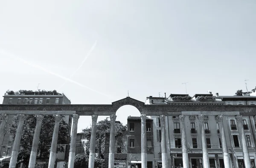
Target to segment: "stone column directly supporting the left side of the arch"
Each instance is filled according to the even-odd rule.
[[[108,154],[108,167],[114,167],[115,161],[115,122],[116,115],[110,115],[110,137],[109,137],[109,154]]]

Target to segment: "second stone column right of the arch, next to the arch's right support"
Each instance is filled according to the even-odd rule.
[[[162,166],[168,168],[167,149],[166,149],[166,130],[165,130],[165,115],[160,115],[161,123],[161,149],[162,149]]]

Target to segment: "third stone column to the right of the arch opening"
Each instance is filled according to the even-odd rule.
[[[180,138],[181,138],[181,145],[182,145],[182,161],[183,161],[183,168],[189,168],[189,155],[188,155],[188,148],[186,142],[186,127],[185,127],[185,116],[180,115]]]

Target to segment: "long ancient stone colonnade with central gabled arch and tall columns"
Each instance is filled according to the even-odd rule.
[[[10,160],[9,168],[15,168],[17,155],[19,151],[20,138],[23,128],[24,120],[26,115],[36,115],[37,123],[34,133],[32,151],[29,159],[29,168],[35,167],[35,160],[38,148],[39,134],[41,130],[41,122],[44,115],[55,116],[55,127],[52,135],[52,145],[50,151],[49,165],[48,168],[54,167],[55,154],[57,148],[57,138],[58,138],[58,127],[60,122],[60,115],[71,115],[73,116],[73,127],[70,142],[70,154],[69,154],[69,168],[74,167],[74,158],[76,151],[76,132],[77,132],[77,122],[79,116],[92,116],[92,133],[90,141],[90,157],[89,157],[89,168],[94,168],[94,156],[95,156],[95,139],[96,139],[96,122],[98,116],[110,116],[111,119],[111,133],[110,133],[110,147],[109,147],[109,168],[114,167],[114,132],[115,132],[115,120],[116,111],[119,107],[123,105],[132,105],[136,107],[141,113],[141,160],[142,168],[147,166],[147,151],[146,151],[146,126],[145,120],[146,116],[160,116],[161,119],[161,132],[162,132],[162,164],[163,168],[167,168],[167,153],[166,153],[166,133],[165,133],[165,116],[179,116],[180,129],[181,129],[181,139],[182,139],[182,153],[183,153],[183,167],[189,168],[188,164],[188,151],[186,148],[186,132],[184,129],[184,117],[197,116],[200,121],[200,129],[202,130],[202,153],[204,160],[204,168],[209,168],[209,158],[207,153],[207,144],[205,140],[204,133],[204,115],[201,112],[207,112],[207,115],[217,116],[216,121],[220,125],[221,140],[223,142],[223,154],[227,156],[227,144],[224,140],[224,128],[222,123],[222,116],[234,116],[236,115],[237,121],[241,120],[241,116],[244,113],[246,115],[254,116],[256,114],[256,108],[249,105],[225,105],[223,102],[173,102],[170,104],[145,104],[142,101],[126,97],[121,100],[115,101],[112,104],[57,104],[57,105],[39,105],[39,104],[0,104],[0,114],[1,114],[1,125],[0,125],[0,146],[3,143],[4,130],[6,127],[6,118],[8,115],[17,115],[19,119],[19,124],[17,127],[17,133],[15,136],[12,157]],[[225,146],[226,145],[226,146]],[[227,156],[228,157],[228,156]],[[228,158],[225,159],[225,168],[230,168],[228,163]],[[247,161],[247,155],[244,156],[244,161]],[[249,158],[250,159],[250,158]]]

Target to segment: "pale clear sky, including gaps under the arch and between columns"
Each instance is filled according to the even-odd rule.
[[[145,102],[189,82],[190,96],[233,96],[246,79],[256,86],[255,18],[255,0],[2,0],[0,95],[40,84],[72,104],[111,104],[128,90]],[[123,106],[116,120],[130,115],[140,113]],[[80,117],[78,132],[90,123]]]

